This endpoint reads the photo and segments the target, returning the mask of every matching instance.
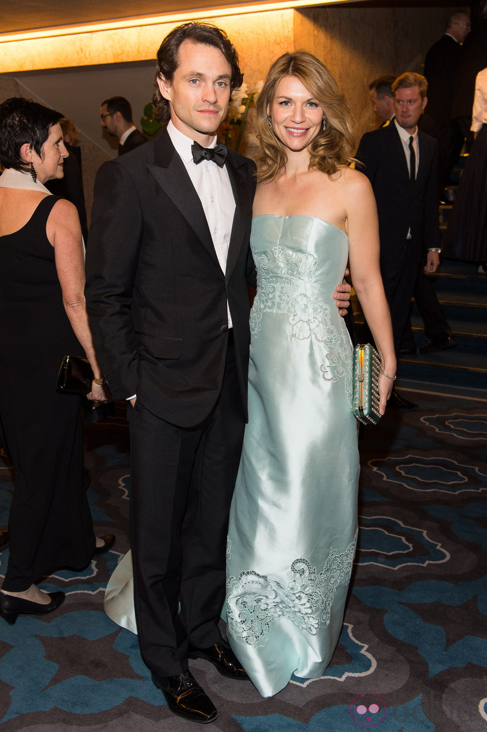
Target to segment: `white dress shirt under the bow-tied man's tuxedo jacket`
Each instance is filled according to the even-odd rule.
[[[225,272],[230,234],[232,234],[233,214],[235,214],[235,199],[233,198],[227,168],[225,166],[220,168],[212,160],[202,160],[201,163],[195,165],[191,152],[194,140],[176,130],[173,122],[167,124],[167,133],[171,138],[175,151],[181,157],[186,171],[188,171],[192,184],[195,186],[208,221],[216,256],[222,272]],[[216,137],[208,147],[216,147]],[[228,303],[227,315],[228,327],[231,328],[232,318],[230,317]]]

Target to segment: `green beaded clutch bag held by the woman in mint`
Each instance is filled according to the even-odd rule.
[[[379,411],[379,354],[370,343],[359,343],[353,352],[352,412],[364,425],[377,425]]]

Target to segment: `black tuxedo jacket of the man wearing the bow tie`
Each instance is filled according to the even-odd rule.
[[[137,394],[181,427],[202,422],[219,397],[227,300],[246,412],[254,163],[229,150],[225,165],[235,198],[226,272],[167,130],[104,163],[95,181],[86,305],[100,365],[114,399]]]

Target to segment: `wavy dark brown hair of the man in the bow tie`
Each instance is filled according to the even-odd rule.
[[[230,94],[238,89],[243,81],[243,74],[238,66],[238,53],[225,31],[216,28],[211,23],[199,23],[197,20],[183,23],[182,26],[174,28],[167,34],[157,51],[156,83],[154,84],[156,91],[152,97],[152,104],[154,105],[154,117],[163,123],[170,120],[170,106],[159,91],[157,79],[165,78],[169,83],[173,81],[174,72],[178,68],[179,46],[184,41],[213,46],[222,51],[232,67]]]

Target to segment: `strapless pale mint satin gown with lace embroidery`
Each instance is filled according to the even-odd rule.
[[[230,511],[227,635],[263,696],[316,679],[341,631],[357,541],[352,347],[333,300],[348,258],[308,216],[252,225],[249,424]]]

